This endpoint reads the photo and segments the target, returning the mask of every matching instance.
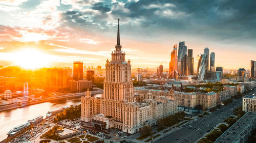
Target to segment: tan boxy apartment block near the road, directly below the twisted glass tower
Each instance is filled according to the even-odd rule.
[[[202,105],[206,109],[216,107],[216,96],[215,92],[197,93],[197,105]]]

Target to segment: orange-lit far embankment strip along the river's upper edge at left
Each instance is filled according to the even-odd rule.
[[[33,104],[38,104],[38,103],[43,103],[43,102],[49,102],[52,100],[58,100],[58,99],[63,99],[63,98],[70,98],[70,97],[81,97],[84,96],[83,93],[75,93],[75,94],[68,94],[68,95],[62,95],[62,96],[57,96],[57,97],[51,97],[51,98],[44,98],[40,100],[34,100],[34,101],[26,101],[26,102],[19,102],[19,103],[12,103],[12,104],[7,104],[7,105],[1,105],[0,106],[0,111],[5,111],[9,109],[15,109],[15,108],[20,108],[28,105],[33,105]],[[103,94],[103,91],[92,91],[91,95],[95,94]]]

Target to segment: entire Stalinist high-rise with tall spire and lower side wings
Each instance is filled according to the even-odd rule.
[[[120,44],[119,19],[116,49],[111,55],[111,61],[106,61],[103,95],[94,98],[87,91],[81,97],[81,121],[91,122],[97,129],[118,128],[132,134],[177,111],[176,102],[167,97],[168,92],[134,92],[131,61],[125,61]]]

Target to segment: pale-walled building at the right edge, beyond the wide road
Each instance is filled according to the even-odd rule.
[[[256,111],[256,96],[244,96],[243,97],[243,111]]]

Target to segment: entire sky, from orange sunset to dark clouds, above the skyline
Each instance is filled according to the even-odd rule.
[[[250,68],[256,60],[256,1],[0,0],[0,65],[102,66],[120,43],[132,68],[168,68],[179,41],[215,66]]]

